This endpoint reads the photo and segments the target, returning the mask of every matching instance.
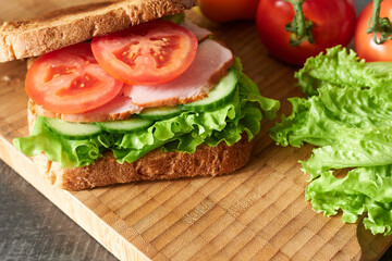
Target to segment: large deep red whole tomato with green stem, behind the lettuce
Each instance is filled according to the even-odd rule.
[[[326,48],[350,42],[355,27],[355,10],[351,3],[346,0],[307,0],[302,7],[305,18],[313,23],[314,44],[305,40],[292,47],[291,33],[285,30],[285,25],[294,18],[293,4],[285,0],[260,0],[257,30],[272,55],[301,65]]]

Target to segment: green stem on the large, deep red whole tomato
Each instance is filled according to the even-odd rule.
[[[285,0],[293,4],[294,8],[294,18],[287,24],[284,28],[291,33],[290,45],[292,47],[298,46],[301,42],[307,40],[308,42],[314,42],[314,37],[311,34],[313,23],[305,18],[302,4],[306,0]]]

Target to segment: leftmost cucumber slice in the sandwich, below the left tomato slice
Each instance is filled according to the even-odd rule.
[[[69,139],[87,139],[102,132],[93,123],[65,122],[53,117],[44,117],[44,122],[50,130]]]

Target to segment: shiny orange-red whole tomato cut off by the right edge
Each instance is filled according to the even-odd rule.
[[[358,16],[354,35],[355,49],[358,57],[365,59],[367,62],[392,61],[392,40],[377,45],[373,41],[373,33],[366,33],[371,12],[372,2],[366,5]],[[381,2],[380,17],[392,18],[392,0],[383,0]]]

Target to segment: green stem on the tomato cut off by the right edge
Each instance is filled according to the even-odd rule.
[[[367,34],[373,34],[373,41],[382,45],[387,40],[392,39],[392,25],[388,17],[380,17],[380,8],[382,0],[373,0],[372,15],[369,18],[369,28]]]

